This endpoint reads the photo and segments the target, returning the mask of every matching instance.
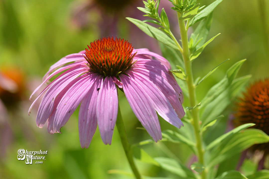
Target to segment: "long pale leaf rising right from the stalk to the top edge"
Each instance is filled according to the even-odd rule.
[[[219,3],[221,3],[222,0],[217,0],[211,3],[209,6],[201,10],[199,14],[193,17],[192,20],[189,22],[189,27],[192,26],[193,24],[203,20],[205,17],[207,17],[213,10],[217,7]]]

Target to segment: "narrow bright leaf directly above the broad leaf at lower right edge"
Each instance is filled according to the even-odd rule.
[[[230,137],[231,135],[240,132],[243,129],[246,129],[248,127],[254,126],[253,123],[247,123],[243,124],[241,126],[236,127],[235,129],[223,134],[222,136],[216,138],[213,142],[207,145],[206,150],[210,150],[211,148],[215,147],[216,145],[219,145],[223,140],[225,140],[227,137]]]

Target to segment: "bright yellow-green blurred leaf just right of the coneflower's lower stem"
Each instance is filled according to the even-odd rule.
[[[140,160],[144,163],[150,163],[152,165],[160,166],[158,162],[156,162],[150,155],[147,154],[143,149],[138,147],[133,147],[133,155],[134,158]]]

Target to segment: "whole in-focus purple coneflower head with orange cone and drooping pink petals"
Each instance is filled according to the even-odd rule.
[[[102,141],[111,144],[118,114],[117,86],[154,141],[162,139],[156,111],[170,124],[183,126],[182,91],[168,70],[171,67],[166,59],[147,49],[134,50],[129,42],[118,38],[98,39],[88,48],[63,57],[43,77],[42,84],[66,70],[41,92],[47,91],[37,112],[38,127],[42,128],[48,120],[48,132],[61,133],[61,127],[80,104],[81,147],[89,147],[97,124]]]

